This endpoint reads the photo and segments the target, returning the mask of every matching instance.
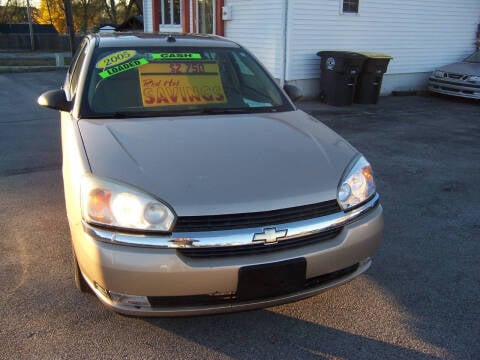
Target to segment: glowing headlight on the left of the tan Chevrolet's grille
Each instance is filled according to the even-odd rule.
[[[126,230],[169,232],[175,214],[163,202],[126,184],[92,175],[82,179],[83,219]]]

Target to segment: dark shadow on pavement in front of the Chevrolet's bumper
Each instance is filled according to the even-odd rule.
[[[270,310],[145,321],[231,358],[437,358]]]

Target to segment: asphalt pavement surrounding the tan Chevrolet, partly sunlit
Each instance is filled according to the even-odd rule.
[[[385,239],[372,268],[265,310],[134,318],[73,285],[58,114],[34,103],[63,76],[0,74],[0,359],[480,358],[478,102],[299,103],[374,167]]]

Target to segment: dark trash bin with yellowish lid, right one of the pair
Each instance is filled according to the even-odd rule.
[[[391,56],[362,52],[365,56],[362,71],[358,76],[354,102],[358,104],[376,104],[380,96],[383,74],[387,72]]]

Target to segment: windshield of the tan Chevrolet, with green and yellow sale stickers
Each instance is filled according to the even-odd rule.
[[[97,48],[82,117],[290,111],[257,61],[240,48]]]

